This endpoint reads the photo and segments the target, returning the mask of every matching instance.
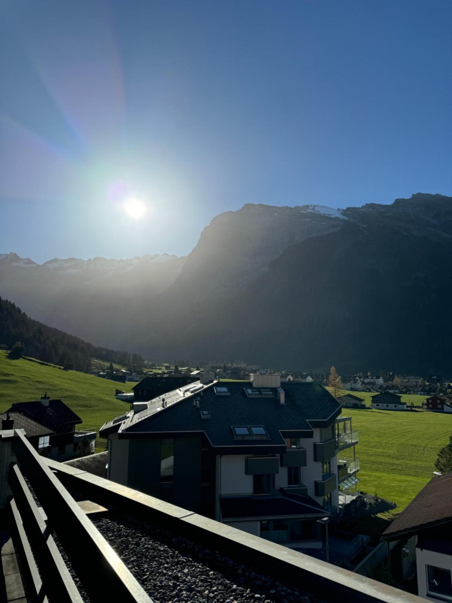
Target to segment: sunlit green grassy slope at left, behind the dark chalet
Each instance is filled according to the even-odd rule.
[[[115,390],[130,391],[134,384],[119,384],[77,371],[63,371],[25,359],[8,360],[0,351],[0,412],[13,402],[39,400],[45,393],[60,398],[83,420],[87,428],[99,427],[128,410],[115,400]]]

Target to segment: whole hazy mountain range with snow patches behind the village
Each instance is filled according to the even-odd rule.
[[[0,295],[98,346],[272,368],[450,373],[452,198],[246,204],[187,257],[0,255]]]

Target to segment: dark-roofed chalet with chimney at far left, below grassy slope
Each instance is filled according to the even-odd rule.
[[[80,425],[81,418],[73,412],[69,406],[66,406],[61,400],[51,400],[47,394],[41,397],[40,400],[34,402],[16,402],[8,408],[7,414],[10,415],[10,420],[13,418],[14,425],[11,429],[18,428],[22,423],[25,433],[30,432],[31,438],[34,439],[37,427],[44,427],[49,430],[47,434],[42,433],[38,436],[37,450],[45,456],[63,461],[66,458],[72,458],[77,455],[78,445],[82,438],[86,437],[90,444],[90,449],[94,452],[96,431],[77,430],[76,425]],[[17,414],[22,415],[19,420]],[[25,423],[32,421],[27,426]]]

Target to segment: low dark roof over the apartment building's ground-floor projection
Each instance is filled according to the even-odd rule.
[[[298,515],[328,515],[323,507],[310,496],[300,497],[303,502],[275,496],[224,496],[220,497],[223,519],[244,517],[274,517]]]

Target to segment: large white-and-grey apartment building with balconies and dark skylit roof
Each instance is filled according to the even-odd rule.
[[[319,546],[316,521],[337,513],[339,482],[357,482],[353,459],[338,466],[337,446],[357,442],[350,418],[336,423],[341,408],[316,383],[201,376],[102,426],[107,478],[268,540]]]

